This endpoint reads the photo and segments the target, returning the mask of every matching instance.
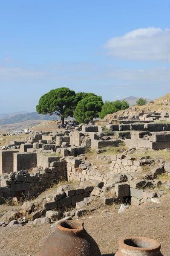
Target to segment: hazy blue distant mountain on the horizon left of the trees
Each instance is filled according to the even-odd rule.
[[[31,112],[31,113],[24,113],[19,114],[15,116],[5,116],[3,118],[0,118],[0,125],[9,125],[9,124],[15,124],[20,122],[26,122],[29,120],[52,120],[52,119],[59,119],[56,115],[41,115],[37,112]]]

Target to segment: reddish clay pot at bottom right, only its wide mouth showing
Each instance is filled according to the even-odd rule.
[[[115,256],[162,256],[158,241],[142,236],[126,237],[119,240]]]

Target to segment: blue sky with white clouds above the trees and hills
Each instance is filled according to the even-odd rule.
[[[0,113],[58,87],[105,100],[170,92],[170,0],[3,0]]]

